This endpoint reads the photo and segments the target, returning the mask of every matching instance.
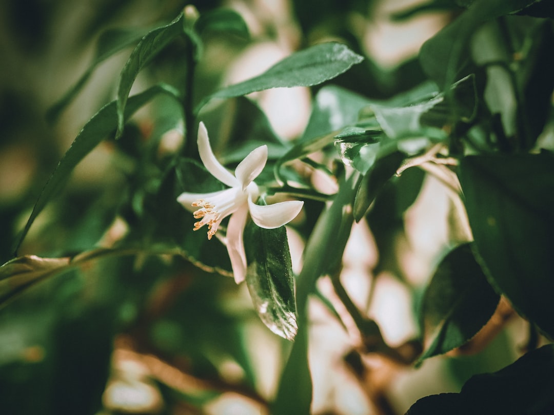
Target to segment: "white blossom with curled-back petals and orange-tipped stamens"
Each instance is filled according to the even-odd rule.
[[[264,169],[268,160],[268,147],[261,146],[248,154],[239,163],[233,175],[221,165],[209,145],[208,131],[204,123],[198,127],[198,151],[202,163],[213,177],[229,186],[229,189],[212,193],[182,193],[177,201],[185,209],[194,211],[200,219],[194,230],[208,225],[208,239],[216,234],[221,221],[231,215],[227,226],[227,251],[233,267],[235,282],[244,281],[246,276],[246,253],[244,252],[243,232],[248,214],[254,223],[265,229],[274,229],[293,220],[302,209],[302,201],[285,201],[273,205],[260,206],[255,200],[260,195],[254,179]]]

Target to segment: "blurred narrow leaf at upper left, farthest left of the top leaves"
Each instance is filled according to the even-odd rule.
[[[58,102],[56,102],[47,112],[47,119],[49,122],[54,122],[60,116],[61,112],[69,105],[73,98],[79,93],[79,91],[89,80],[89,77],[93,74],[96,67],[105,61],[110,56],[116,54],[122,49],[127,48],[132,44],[139,42],[144,36],[146,29],[108,29],[100,35],[98,42],[96,43],[96,51],[94,54],[93,63],[89,68],[81,75],[80,79],[67,91]]]

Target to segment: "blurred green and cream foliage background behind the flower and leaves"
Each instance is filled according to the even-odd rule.
[[[385,100],[427,80],[417,59],[420,46],[458,17],[463,8],[457,3],[464,2],[434,2],[429,11],[402,15],[419,3],[192,2],[200,14],[220,6],[233,8],[250,32],[250,39],[204,34],[196,97],[257,75],[319,42],[345,43],[366,58],[327,84],[256,92],[249,96],[252,101],[233,98],[207,106],[202,115],[212,126],[211,134],[224,137],[214,144],[222,159],[240,160],[240,135],[247,127],[265,134],[260,141],[301,137],[311,100],[326,85]],[[47,120],[54,103],[95,60],[100,34],[116,27],[133,28],[129,33],[135,36],[145,34],[160,22],[170,22],[187,4],[0,4],[1,263],[13,258],[18,232],[75,136],[114,98],[119,71],[132,48],[99,63],[59,118]],[[182,85],[187,74],[179,63],[186,59],[185,49],[174,42],[163,50],[141,72],[132,93],[160,81]],[[263,110],[270,128],[251,102]],[[236,286],[225,276],[230,270],[226,258],[219,273],[211,273],[213,269],[196,267],[164,245],[168,237],[178,238],[190,227],[187,213],[171,204],[171,191],[163,191],[165,186],[172,190],[179,180],[166,172],[182,133],[181,108],[169,98],[155,98],[127,123],[118,141],[107,138],[78,165],[68,185],[34,222],[17,254],[37,255],[29,267],[51,268],[53,277],[33,283],[9,301],[2,298],[0,412],[269,413],[291,343],[260,322],[245,284]],[[542,139],[548,142],[552,134]],[[336,190],[336,183],[319,186],[329,193]],[[459,206],[447,193],[440,180],[419,169],[407,170],[383,188],[366,216],[371,232],[365,223],[355,225],[343,257],[342,284],[353,304],[362,310],[371,304],[366,314],[399,355],[353,350],[337,287],[329,278],[319,282],[319,294],[310,302],[313,413],[404,413],[420,397],[459,391],[471,375],[510,364],[529,343],[527,324],[504,304],[495,314],[499,320],[491,328],[493,341],[427,360],[417,370],[412,367],[422,347],[416,341],[420,333],[415,316],[424,284],[466,231],[456,222]],[[289,230],[295,272],[321,209],[321,202],[307,201],[304,217]],[[162,225],[152,219],[161,216],[166,218]],[[101,248],[126,238],[139,243],[100,255]],[[81,254],[94,249],[100,251]],[[208,257],[226,255],[213,246],[202,252]],[[65,267],[67,258],[73,258],[74,267]],[[412,357],[402,361],[404,355]]]

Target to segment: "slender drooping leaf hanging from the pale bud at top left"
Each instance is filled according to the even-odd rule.
[[[131,52],[129,59],[119,75],[117,86],[117,132],[116,138],[121,136],[125,123],[125,106],[129,98],[129,92],[139,72],[152,58],[160,53],[173,39],[184,34],[183,14],[168,25],[156,28],[148,32]]]

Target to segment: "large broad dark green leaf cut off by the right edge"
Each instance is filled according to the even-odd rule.
[[[490,282],[554,337],[554,155],[469,156],[459,178]]]

